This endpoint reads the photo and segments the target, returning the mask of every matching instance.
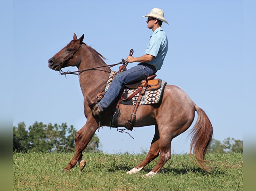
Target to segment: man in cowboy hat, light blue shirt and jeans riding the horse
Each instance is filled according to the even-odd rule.
[[[122,90],[122,85],[144,80],[145,75],[151,76],[161,69],[168,49],[167,36],[161,27],[163,22],[167,24],[168,22],[163,16],[163,10],[158,8],[152,9],[149,14],[143,16],[148,18],[146,21],[147,27],[153,31],[145,55],[137,58],[127,57],[126,62],[140,63],[114,77],[104,97],[92,109],[93,115],[100,115],[115,101]]]

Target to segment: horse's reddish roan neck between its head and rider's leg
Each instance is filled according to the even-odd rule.
[[[84,55],[78,68],[79,71],[100,66],[107,66],[99,55],[95,54],[90,49],[91,48],[88,46],[83,47]],[[97,93],[102,92],[109,78],[110,71],[111,70],[109,67],[103,67],[80,73],[79,82],[83,95],[89,95],[90,97],[94,98]]]

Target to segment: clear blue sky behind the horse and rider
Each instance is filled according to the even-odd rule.
[[[14,126],[21,121],[27,127],[35,121],[67,122],[79,130],[86,118],[78,77],[59,76],[48,68],[48,59],[73,39],[73,33],[85,34],[84,42],[105,56],[107,64],[125,59],[130,49],[133,56],[142,56],[152,31],[141,16],[157,7],[169,23],[163,23],[169,45],[157,76],[182,88],[205,110],[215,139],[253,137],[255,5],[241,0],[8,2],[10,9],[1,6],[7,29],[1,32],[5,72],[0,85],[6,90],[0,95],[5,100],[1,116],[11,116]],[[115,128],[96,133],[104,152],[138,153],[149,149],[154,128],[135,128],[135,140]],[[189,152],[187,135],[173,139],[172,153]]]

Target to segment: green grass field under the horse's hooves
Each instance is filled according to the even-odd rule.
[[[126,172],[145,155],[85,153],[87,165],[62,172],[74,153],[13,153],[13,190],[243,190],[243,154],[207,154],[209,174],[189,155],[172,155],[154,177],[142,177],[159,157],[137,174]]]

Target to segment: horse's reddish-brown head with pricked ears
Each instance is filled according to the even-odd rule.
[[[78,66],[80,62],[78,61],[79,57],[77,55],[79,53],[77,51],[84,44],[84,37],[85,35],[83,34],[80,39],[77,39],[77,35],[74,33],[74,39],[48,60],[48,67],[52,70],[59,71],[61,68],[68,66]]]

